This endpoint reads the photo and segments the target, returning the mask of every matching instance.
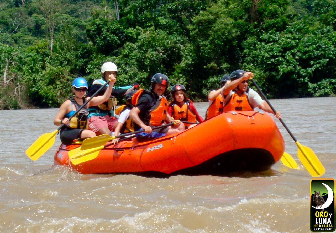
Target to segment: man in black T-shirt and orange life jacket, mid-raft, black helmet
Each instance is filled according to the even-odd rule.
[[[162,125],[164,122],[176,124],[154,130],[163,134],[173,134],[184,130],[184,124],[174,120],[167,114],[168,102],[163,96],[168,88],[169,79],[166,75],[157,73],[151,79],[150,91],[143,90],[136,98],[135,107],[129,113],[130,118],[135,123],[134,129],[144,129],[145,133],[152,133],[152,127]],[[152,127],[151,127],[152,126]]]

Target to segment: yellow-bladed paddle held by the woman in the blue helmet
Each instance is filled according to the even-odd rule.
[[[77,113],[84,108],[84,106],[89,103],[89,101],[95,96],[97,95],[103,88],[104,86],[106,86],[108,83],[110,82],[107,81],[106,83],[104,83],[104,85],[102,85],[81,107],[79,107],[77,109],[77,111],[71,116],[69,117],[69,120],[71,118],[73,118],[74,116],[77,115]],[[37,138],[34,143],[26,150],[26,155],[28,156],[28,158],[30,158],[31,160],[35,161],[38,158],[41,157],[41,155],[43,155],[46,151],[48,151],[52,145],[55,142],[55,135],[57,134],[57,132],[64,126],[64,124],[62,124],[61,126],[58,127],[58,129],[56,129],[55,131],[51,132],[51,133],[45,133],[42,134],[39,138]]]

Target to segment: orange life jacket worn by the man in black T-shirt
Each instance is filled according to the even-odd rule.
[[[138,103],[138,100],[143,93],[148,93],[154,98],[153,93],[148,92],[148,91],[143,90],[143,89],[139,89],[131,97],[130,104],[135,106]],[[162,123],[164,122],[164,120],[166,119],[166,116],[167,116],[167,109],[168,109],[168,101],[167,101],[166,97],[162,97],[161,99],[157,99],[156,103],[151,107],[151,109],[147,113],[147,117],[146,117],[147,119],[145,119],[145,121],[148,121],[148,122],[144,121],[143,123],[145,123],[145,124],[149,123],[150,125],[153,125],[153,126],[162,125]],[[141,120],[143,120],[143,119],[141,119]]]

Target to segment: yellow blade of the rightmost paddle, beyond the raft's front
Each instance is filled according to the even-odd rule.
[[[326,172],[326,169],[315,153],[309,147],[301,145],[300,142],[296,141],[295,143],[298,147],[297,154],[299,159],[310,175],[312,177],[322,176]]]

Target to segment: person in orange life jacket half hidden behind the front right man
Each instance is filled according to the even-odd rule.
[[[223,89],[226,83],[230,83],[231,75],[226,74],[222,77],[220,88],[218,90],[213,90],[208,95],[209,108],[205,113],[205,119],[210,119],[214,116],[217,116],[223,113],[224,100],[223,100]]]

